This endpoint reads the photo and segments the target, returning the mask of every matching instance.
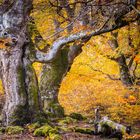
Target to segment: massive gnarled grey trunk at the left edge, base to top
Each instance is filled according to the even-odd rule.
[[[5,2],[0,9],[0,60],[6,96],[3,124],[22,125],[39,111],[37,82],[26,54],[30,47],[26,26],[32,0]]]

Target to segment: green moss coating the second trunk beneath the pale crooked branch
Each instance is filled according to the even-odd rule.
[[[68,67],[67,56],[68,49],[63,49],[52,63],[45,64],[43,66],[40,80],[40,92],[42,97],[46,97],[43,100],[44,110],[47,109],[49,112],[53,113],[53,117],[64,117],[64,110],[60,105],[58,105],[59,102],[57,99],[57,94],[62,77]]]

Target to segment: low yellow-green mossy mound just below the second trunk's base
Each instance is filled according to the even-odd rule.
[[[58,124],[59,125],[66,125],[66,124],[70,124],[70,123],[76,123],[77,120],[73,119],[71,117],[65,117],[64,119],[59,120]]]

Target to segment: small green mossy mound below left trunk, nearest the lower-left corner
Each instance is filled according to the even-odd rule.
[[[8,135],[22,134],[23,131],[24,128],[22,128],[21,126],[7,126],[5,129],[5,132]]]

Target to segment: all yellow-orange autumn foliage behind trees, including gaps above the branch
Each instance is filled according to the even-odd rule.
[[[53,34],[55,34],[53,20],[55,18],[60,22],[63,20],[60,16],[54,14],[53,9],[47,8],[47,0],[34,0],[33,2],[32,17],[35,20],[37,29],[43,38],[52,44],[54,41]],[[67,17],[65,11],[63,11],[63,15]],[[68,23],[64,22],[60,28],[65,29],[67,25]],[[90,29],[90,27],[78,24],[78,26],[74,26],[72,33],[86,29]],[[118,64],[109,59],[112,57],[117,58],[122,53],[130,56],[135,55],[135,50],[140,45],[140,32],[138,30],[139,26],[136,23],[119,29],[119,48],[114,51],[108,42],[111,39],[110,34],[94,37],[85,44],[82,54],[75,59],[70,72],[63,79],[60,87],[59,102],[67,114],[72,112],[93,114],[93,109],[96,106],[102,106],[104,114],[108,114],[114,120],[123,121],[125,119],[130,123],[139,120],[140,89],[137,87],[139,90],[135,91],[135,87],[132,87],[131,90],[126,88],[118,80],[120,77]],[[67,35],[66,30],[60,33],[61,37]],[[130,35],[133,47],[129,45],[128,35]],[[50,36],[52,37],[48,39]],[[134,63],[139,63],[139,54],[135,56]],[[39,76],[40,64],[35,63],[33,66]],[[135,70],[135,75],[140,75],[140,64]]]

